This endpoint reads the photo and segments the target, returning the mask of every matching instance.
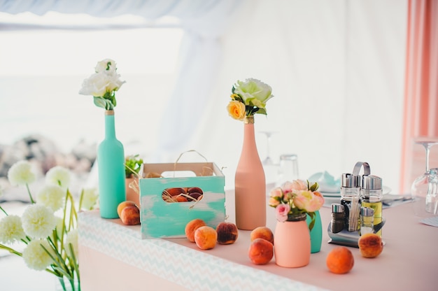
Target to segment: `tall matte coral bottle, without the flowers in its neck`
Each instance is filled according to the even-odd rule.
[[[266,183],[255,144],[254,116],[243,121],[243,146],[234,177],[236,226],[253,230],[266,225]]]

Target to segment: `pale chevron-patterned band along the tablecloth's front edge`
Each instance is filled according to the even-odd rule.
[[[99,211],[79,213],[78,224],[80,245],[189,290],[323,290],[165,239],[141,239],[139,226],[102,219]]]

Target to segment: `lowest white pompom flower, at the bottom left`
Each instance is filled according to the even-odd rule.
[[[23,260],[27,267],[36,271],[43,271],[52,264],[52,258],[43,249],[43,247],[50,252],[51,248],[47,241],[43,239],[36,239],[27,244],[23,250]]]

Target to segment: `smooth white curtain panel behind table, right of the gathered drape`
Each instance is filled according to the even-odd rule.
[[[224,62],[194,135],[197,148],[232,184],[243,126],[225,113],[232,83],[260,78],[273,87],[267,117],[271,155],[295,153],[302,178],[339,177],[355,162],[397,192],[407,2],[247,1],[223,38]],[[266,139],[257,134],[260,157]]]

